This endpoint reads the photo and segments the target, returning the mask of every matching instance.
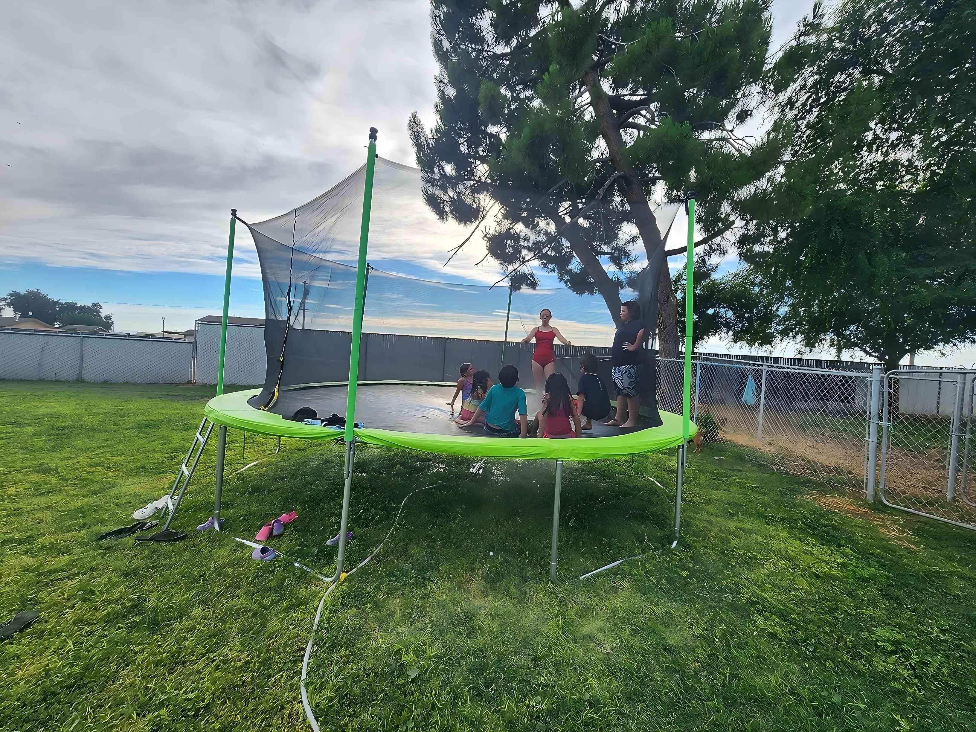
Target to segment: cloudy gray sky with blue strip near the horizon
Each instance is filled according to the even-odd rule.
[[[811,6],[774,6],[777,43]],[[219,311],[231,207],[254,222],[313,198],[362,164],[371,126],[413,165],[407,117],[433,121],[427,2],[40,0],[4,16],[0,292],[98,300],[125,330]],[[453,236],[417,262],[371,259],[497,279],[477,243],[441,267]],[[246,231],[235,251],[231,309],[262,316]]]

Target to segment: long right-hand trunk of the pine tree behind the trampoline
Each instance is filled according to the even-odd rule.
[[[583,82],[590,91],[590,103],[599,124],[600,137],[606,142],[607,152],[617,174],[617,187],[627,200],[633,223],[637,226],[640,240],[644,244],[647,254],[647,266],[638,275],[638,292],[640,293],[641,320],[644,332],[650,335],[654,325],[658,322],[658,288],[661,270],[667,272],[665,257],[665,242],[661,238],[657,219],[647,203],[647,196],[640,183],[640,177],[630,166],[624,150],[624,138],[620,134],[617,115],[610,106],[606,93],[599,84],[599,78],[594,71],[587,71]],[[671,288],[669,287],[669,290]],[[676,324],[674,326],[676,330]]]

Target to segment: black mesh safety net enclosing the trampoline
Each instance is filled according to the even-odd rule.
[[[246,224],[261,264],[267,356],[264,388],[251,399],[252,406],[284,415],[275,403],[276,389],[280,393],[346,382],[364,183],[362,166],[304,205]],[[590,222],[599,222],[599,208],[611,204],[594,197],[589,205]],[[670,204],[656,212],[663,236],[667,237],[680,210],[679,204]],[[598,228],[588,229],[596,239],[603,235]],[[377,157],[369,250],[382,252],[383,263],[443,264],[472,231],[465,252],[468,260],[469,252],[485,250],[479,227],[438,221],[425,202],[421,172]],[[567,262],[572,261],[570,256]],[[386,271],[383,264],[370,266],[359,380],[454,382],[459,378],[458,366],[470,362],[497,381],[503,363],[512,363],[519,369],[519,386],[531,389],[534,346],[519,342],[539,324],[539,312],[546,307],[552,312],[552,325],[573,343],[556,346],[556,368],[571,388],[575,390],[580,376],[579,358],[590,350],[602,359],[600,373],[612,391],[606,359],[615,326],[603,298],[579,295],[567,287],[509,288],[497,264],[485,262],[478,268],[472,264],[469,277],[484,284],[432,281]],[[639,261],[632,263],[634,271],[640,266]],[[500,281],[493,284],[492,280]],[[622,301],[637,299],[623,286],[620,295]],[[651,324],[647,333],[653,330]],[[646,352],[648,368],[641,385],[651,426],[660,424],[654,355]]]

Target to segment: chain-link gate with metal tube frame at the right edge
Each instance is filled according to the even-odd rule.
[[[976,529],[976,371],[885,377],[880,495],[888,506]]]

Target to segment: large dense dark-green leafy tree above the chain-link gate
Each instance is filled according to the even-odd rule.
[[[897,367],[976,339],[976,15],[959,0],[845,0],[778,63],[784,163],[737,247],[784,339]]]

